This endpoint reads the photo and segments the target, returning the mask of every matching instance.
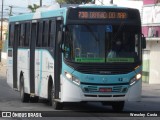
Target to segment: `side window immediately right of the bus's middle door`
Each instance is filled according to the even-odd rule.
[[[38,23],[38,36],[36,41],[36,47],[42,46],[42,37],[43,37],[43,21]]]

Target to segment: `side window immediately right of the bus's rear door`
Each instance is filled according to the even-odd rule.
[[[24,41],[25,41],[25,24],[21,24],[19,46],[23,47],[24,46]]]

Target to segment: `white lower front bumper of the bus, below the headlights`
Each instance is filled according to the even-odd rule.
[[[61,76],[61,102],[140,101],[141,84],[139,80],[133,86],[128,85],[126,92],[85,92],[82,87]]]

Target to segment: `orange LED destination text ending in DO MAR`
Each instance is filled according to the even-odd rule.
[[[127,13],[79,11],[78,18],[79,19],[127,19]]]

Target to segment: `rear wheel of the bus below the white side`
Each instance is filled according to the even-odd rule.
[[[29,102],[30,95],[25,93],[24,91],[24,77],[23,76],[21,76],[20,78],[20,96],[21,96],[22,102]]]

